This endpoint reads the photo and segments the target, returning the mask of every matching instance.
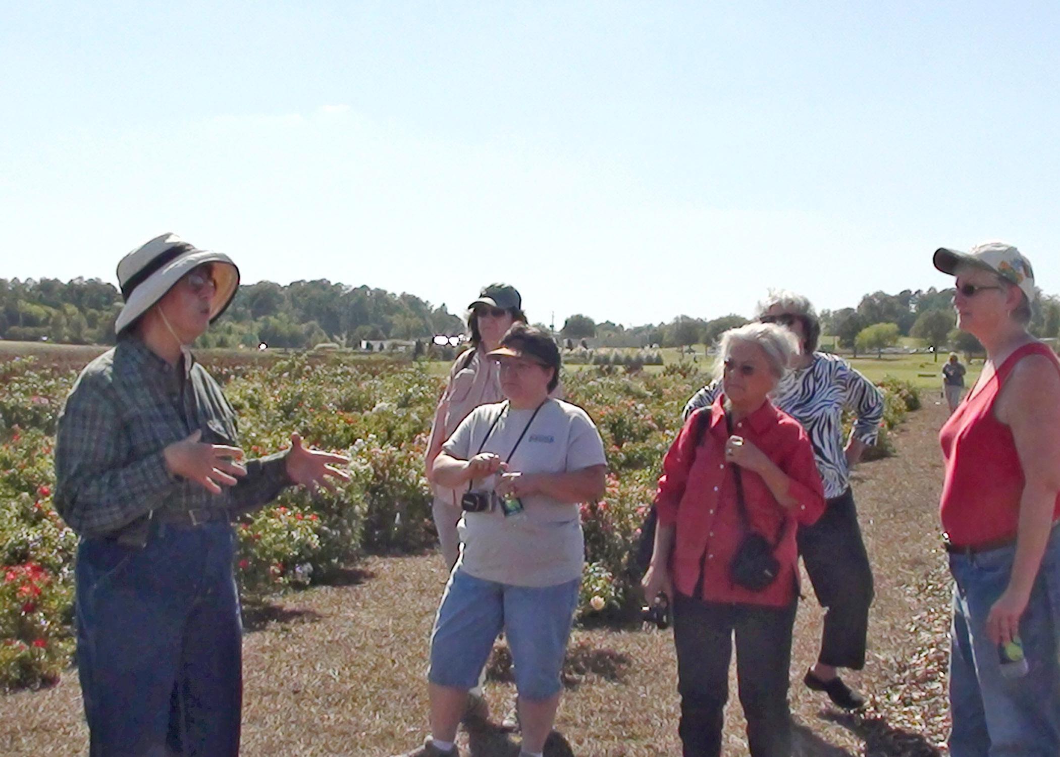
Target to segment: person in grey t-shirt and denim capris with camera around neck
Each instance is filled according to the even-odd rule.
[[[515,663],[523,754],[541,756],[560,703],[585,545],[579,505],[604,492],[603,442],[588,415],[555,400],[560,350],[515,323],[495,360],[505,401],[476,407],[434,459],[462,493],[463,545],[430,637],[430,737],[406,757],[455,757],[457,726],[501,631]]]

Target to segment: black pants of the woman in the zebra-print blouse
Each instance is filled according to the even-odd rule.
[[[798,550],[825,613],[819,662],[835,668],[865,667],[872,568],[848,489],[828,500],[825,514],[798,529]]]

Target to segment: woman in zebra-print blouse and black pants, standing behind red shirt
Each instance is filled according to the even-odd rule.
[[[807,298],[790,292],[770,292],[758,303],[757,320],[778,323],[798,339],[799,352],[792,370],[771,397],[810,435],[828,499],[820,520],[798,529],[799,553],[817,600],[826,608],[820,654],[803,683],[826,692],[844,709],[858,709],[865,704],[865,698],[844,683],[838,669],[861,670],[865,666],[873,586],[850,491],[850,470],[861,460],[865,447],[876,443],[883,420],[883,395],[849,363],[816,351],[820,322]],[[685,406],[685,417],[699,407],[710,406],[721,391],[721,382],[705,386]],[[845,410],[854,416],[849,437],[843,433]]]

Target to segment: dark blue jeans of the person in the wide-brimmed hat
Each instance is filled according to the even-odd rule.
[[[77,548],[77,667],[92,757],[240,751],[242,624],[227,523]]]

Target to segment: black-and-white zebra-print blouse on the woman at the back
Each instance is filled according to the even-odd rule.
[[[692,410],[709,407],[722,392],[721,380],[700,389],[685,405],[685,418]],[[883,394],[868,378],[842,357],[813,353],[813,363],[788,373],[772,397],[773,403],[802,424],[813,444],[813,456],[825,482],[828,499],[843,494],[849,486],[850,470],[843,452],[843,410],[855,416],[851,436],[866,444],[876,442],[883,420]]]

